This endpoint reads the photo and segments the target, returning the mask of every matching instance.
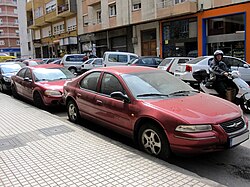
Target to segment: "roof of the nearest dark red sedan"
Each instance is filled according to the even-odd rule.
[[[143,66],[109,66],[109,67],[95,68],[90,71],[104,71],[114,74],[129,74],[136,72],[161,71],[161,70]]]

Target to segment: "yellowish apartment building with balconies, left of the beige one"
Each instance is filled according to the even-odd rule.
[[[76,3],[76,0],[27,0],[27,26],[32,29],[37,58],[78,52]]]

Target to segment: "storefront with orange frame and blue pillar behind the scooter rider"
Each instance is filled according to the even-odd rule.
[[[228,56],[250,62],[250,3],[231,5],[200,12],[198,15],[199,55],[212,55],[221,49]],[[250,34],[250,33],[249,33]]]

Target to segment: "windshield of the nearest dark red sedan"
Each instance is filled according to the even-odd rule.
[[[137,98],[183,96],[197,92],[165,71],[137,72],[121,76]]]

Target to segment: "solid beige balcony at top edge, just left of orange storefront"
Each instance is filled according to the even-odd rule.
[[[186,0],[174,4],[174,1],[158,1],[157,18],[181,16],[197,12],[197,0]]]

